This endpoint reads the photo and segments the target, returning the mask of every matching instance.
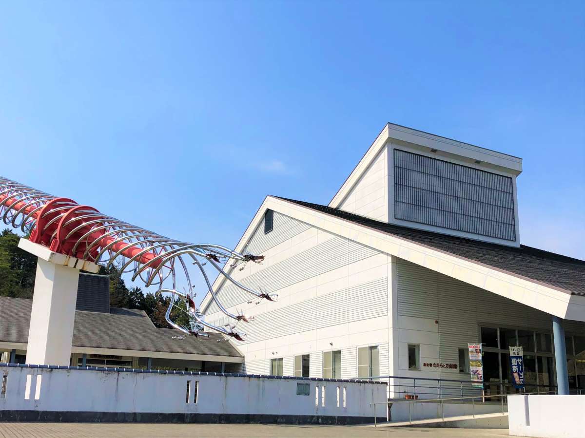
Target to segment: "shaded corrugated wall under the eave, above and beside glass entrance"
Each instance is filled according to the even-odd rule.
[[[479,342],[480,325],[552,329],[551,317],[545,312],[402,259],[397,263],[397,282],[398,315],[439,321],[439,359],[443,362],[457,363],[457,349]],[[584,323],[567,321],[565,325],[569,331],[585,331]],[[469,378],[467,373],[455,374]]]

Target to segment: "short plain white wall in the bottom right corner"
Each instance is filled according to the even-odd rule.
[[[581,438],[585,395],[510,395],[510,434],[543,438]]]

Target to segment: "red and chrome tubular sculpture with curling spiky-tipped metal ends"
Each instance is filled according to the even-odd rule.
[[[2,177],[0,216],[6,225],[20,228],[23,233],[30,233],[30,241],[49,247],[51,251],[107,267],[119,263],[122,273],[132,273],[132,281],[140,278],[146,287],[157,285],[157,296],[165,293],[171,295],[165,316],[168,324],[186,334],[208,336],[203,333],[204,327],[207,327],[238,340],[243,340],[242,336],[245,336],[244,333],[234,332],[235,326],[228,324],[224,328],[205,322],[195,306],[196,294],[193,292],[185,258],[199,268],[209,293],[221,312],[236,322],[249,322],[251,318],[243,313],[230,313],[222,306],[203,268],[206,263],[211,264],[219,275],[257,298],[270,301],[276,299],[274,294],[247,288],[234,280],[220,265],[227,260],[232,260],[232,268],[250,261],[260,263],[264,260],[263,256],[241,254],[215,244],[194,244],[168,239],[106,216],[91,206],[79,205],[73,199],[57,198]],[[184,274],[188,291],[177,290],[178,272]],[[171,287],[163,287],[163,282],[169,279]],[[176,306],[176,297],[185,302],[186,310]],[[173,306],[187,313],[189,327],[171,319]]]

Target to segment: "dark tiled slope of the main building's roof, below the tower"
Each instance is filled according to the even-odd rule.
[[[280,199],[294,202],[294,204],[312,208],[340,219],[349,220],[383,233],[392,234],[401,239],[424,244],[445,253],[450,253],[453,256],[476,261],[512,275],[519,275],[569,292],[585,293],[585,261],[577,258],[561,256],[560,254],[525,245],[511,247],[392,225],[325,205],[287,198]]]

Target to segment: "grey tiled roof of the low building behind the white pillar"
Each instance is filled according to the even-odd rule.
[[[31,299],[0,296],[0,341],[27,342],[31,307]],[[180,334],[174,329],[158,329],[140,310],[75,311],[72,344],[74,347],[242,357],[219,333],[172,339]]]

